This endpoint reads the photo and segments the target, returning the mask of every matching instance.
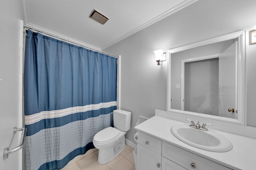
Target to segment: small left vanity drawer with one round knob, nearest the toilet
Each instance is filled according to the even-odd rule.
[[[140,131],[138,131],[138,143],[160,155],[162,153],[162,141]]]

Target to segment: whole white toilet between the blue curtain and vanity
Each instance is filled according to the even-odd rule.
[[[131,112],[113,111],[114,127],[102,129],[93,137],[93,145],[99,150],[98,163],[106,164],[125,148],[124,135],[130,129]]]

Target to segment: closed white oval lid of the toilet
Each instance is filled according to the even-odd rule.
[[[96,142],[105,142],[105,141],[110,141],[111,139],[115,138],[120,131],[118,131],[116,128],[113,127],[107,127],[94,136],[94,141]]]

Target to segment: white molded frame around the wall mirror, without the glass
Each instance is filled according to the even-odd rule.
[[[172,53],[177,53],[187,49],[192,49],[196,47],[201,47],[204,45],[209,45],[212,43],[218,43],[220,41],[226,41],[230,39],[238,38],[238,118],[232,119],[228,117],[220,117],[215,115],[207,115],[203,113],[196,113],[190,111],[182,111],[177,109],[171,109],[171,57]],[[192,115],[196,117],[214,119],[219,121],[225,121],[230,123],[236,123],[241,125],[246,125],[246,109],[245,109],[245,31],[238,31],[235,33],[230,33],[227,35],[222,35],[220,37],[215,37],[212,39],[207,39],[197,43],[192,43],[189,45],[184,45],[175,49],[170,49],[167,51],[167,111],[180,113],[185,115]]]

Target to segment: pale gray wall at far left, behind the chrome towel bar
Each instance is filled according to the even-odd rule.
[[[0,1],[0,169],[18,170],[18,153],[3,160],[3,150],[8,147],[13,127],[18,126],[19,113],[19,20],[23,20],[21,0]],[[14,139],[11,147],[15,147]]]

